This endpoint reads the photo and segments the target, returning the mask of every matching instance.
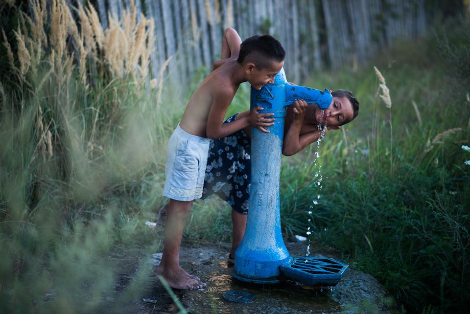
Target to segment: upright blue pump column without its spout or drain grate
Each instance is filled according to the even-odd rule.
[[[255,283],[279,282],[279,266],[289,261],[282,237],[279,213],[280,159],[286,116],[284,69],[272,85],[260,91],[251,87],[251,108],[264,107],[263,113],[274,113],[270,133],[251,128],[251,189],[249,214],[243,240],[235,252],[232,275]],[[275,101],[276,100],[276,101]]]

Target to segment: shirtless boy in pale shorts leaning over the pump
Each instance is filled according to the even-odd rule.
[[[240,84],[248,81],[261,89],[272,84],[284,64],[286,52],[269,35],[255,35],[243,43],[238,33],[226,29],[222,40],[222,60],[214,63],[210,73],[196,89],[171,136],[167,148],[166,183],[163,195],[170,198],[165,225],[163,256],[157,273],[172,288],[199,289],[206,286],[179,266],[179,250],[184,220],[195,198],[202,196],[210,139],[225,137],[248,126],[264,132],[272,125],[253,108],[244,117],[223,123],[225,113]]]

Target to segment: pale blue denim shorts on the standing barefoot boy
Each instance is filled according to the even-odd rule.
[[[209,141],[187,133],[178,123],[168,142],[163,196],[184,201],[201,198]]]

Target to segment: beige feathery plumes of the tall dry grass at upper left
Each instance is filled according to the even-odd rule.
[[[86,8],[79,4],[78,8],[72,8],[78,12],[78,21],[72,17],[70,7],[64,0],[54,0],[51,3],[49,16],[50,25],[46,24],[48,8],[45,0],[33,0],[31,2],[32,17],[21,12],[21,25],[14,31],[17,51],[15,55],[11,44],[3,31],[3,44],[7,48],[7,57],[13,78],[4,80],[3,86],[20,86],[20,93],[13,96],[13,103],[25,104],[29,99],[34,99],[40,94],[52,92],[55,88],[51,102],[38,102],[37,122],[39,129],[39,146],[43,146],[44,139],[49,147],[61,146],[60,134],[57,129],[52,129],[57,121],[50,114],[53,110],[65,113],[63,102],[70,99],[70,94],[76,91],[70,86],[78,74],[79,81],[88,89],[95,77],[106,77],[107,71],[111,73],[109,82],[105,83],[111,88],[115,77],[129,78],[135,82],[135,86],[144,86],[149,81],[150,54],[154,44],[153,20],[141,17],[137,23],[134,2],[131,2],[131,10],[126,11],[123,20],[118,21],[110,16],[110,27],[106,32],[98,19],[98,14],[93,6],[88,3]],[[46,28],[50,27],[50,34],[46,35]],[[29,32],[28,32],[29,30]],[[39,71],[39,73],[38,73]],[[101,72],[99,72],[101,71]],[[163,78],[160,77],[160,82]],[[100,87],[96,85],[93,87]],[[44,86],[45,85],[45,86]],[[44,91],[49,89],[49,91]],[[158,86],[162,88],[162,83]],[[2,89],[3,90],[3,89]],[[98,107],[95,111],[95,119],[92,134],[96,134],[96,123],[101,105],[105,103],[117,103],[117,93],[106,95],[104,91],[88,91],[88,97],[96,99]],[[161,96],[161,95],[160,95]],[[4,97],[5,99],[6,97]],[[104,102],[103,102],[104,101]],[[107,105],[107,104],[106,104]],[[76,103],[72,107],[77,106]],[[21,110],[23,106],[19,108]],[[113,117],[109,117],[113,118]],[[69,125],[68,122],[65,124]],[[46,126],[48,129],[44,129]],[[94,146],[91,137],[86,146]],[[53,142],[53,143],[51,143]],[[80,140],[81,142],[81,140]],[[98,145],[95,145],[98,146]],[[51,156],[51,151],[48,152]]]

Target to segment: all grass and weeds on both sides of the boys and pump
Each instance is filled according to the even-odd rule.
[[[162,75],[150,80],[151,20],[128,12],[128,28],[107,31],[127,38],[116,43],[91,7],[75,12],[78,28],[53,3],[53,27],[42,1],[34,19],[9,15],[21,23],[2,35],[0,312],[112,312],[152,267],[143,261],[103,309],[118,272],[106,257],[159,248],[145,222],[165,202],[166,143],[201,78],[185,94]],[[315,246],[340,250],[409,312],[461,312],[470,295],[469,42],[461,24],[446,28],[306,82],[353,91],[360,115],[318,150],[285,158],[281,174],[285,236],[309,232]],[[248,107],[248,91],[227,115]],[[230,228],[226,204],[197,201],[184,241],[229,241]]]

